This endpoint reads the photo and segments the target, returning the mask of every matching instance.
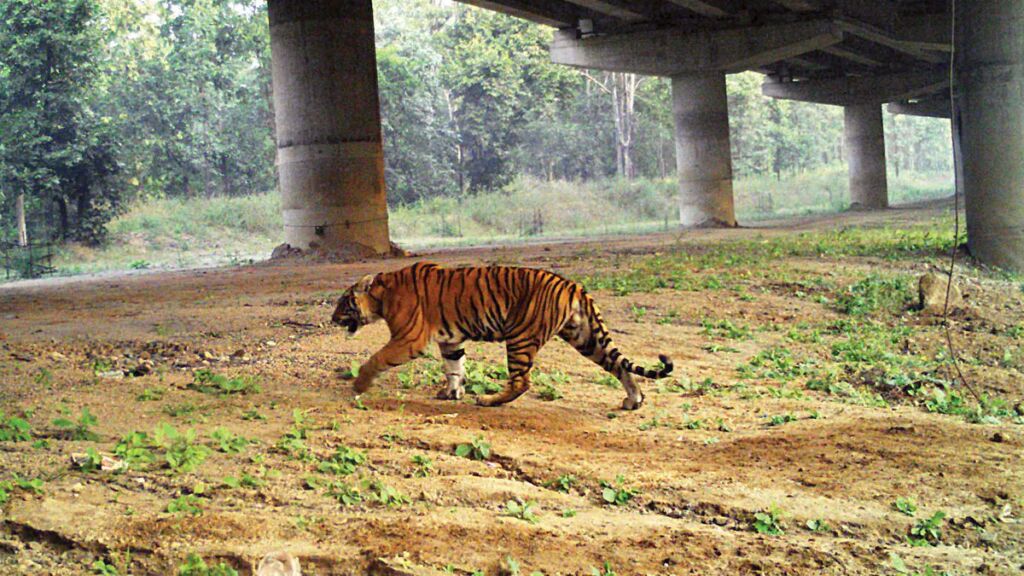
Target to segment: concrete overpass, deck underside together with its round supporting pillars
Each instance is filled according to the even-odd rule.
[[[684,225],[736,223],[726,74],[844,107],[851,203],[866,209],[888,206],[882,107],[954,117],[971,249],[1024,270],[1024,1],[959,2],[955,36],[948,0],[465,1],[557,28],[555,63],[672,79]],[[288,242],[384,251],[371,0],[269,7]]]

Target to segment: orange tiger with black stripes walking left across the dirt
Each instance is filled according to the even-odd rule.
[[[444,361],[442,400],[461,400],[465,394],[466,341],[505,342],[509,380],[501,392],[478,396],[480,406],[501,406],[528,390],[534,359],[555,334],[618,378],[625,410],[644,402],[633,375],[664,378],[673,369],[665,355],[658,356],[656,370],[630,362],[612,343],[601,311],[584,287],[540,269],[445,269],[421,261],[362,277],[341,295],[331,317],[350,336],[382,319],[391,339],[359,367],[352,384],[356,394],[367,392],[381,372],[424,356],[431,342]],[[341,376],[352,378],[351,373]]]

